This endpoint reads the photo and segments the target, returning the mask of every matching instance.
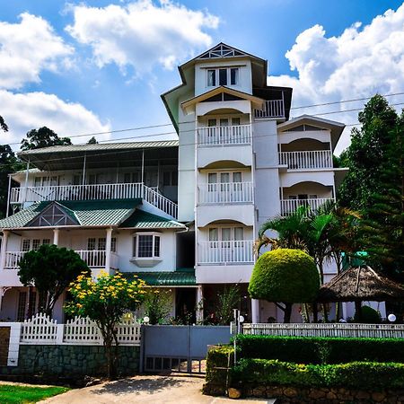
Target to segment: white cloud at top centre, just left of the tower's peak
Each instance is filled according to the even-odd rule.
[[[70,6],[74,23],[66,30],[80,43],[90,45],[98,66],[117,64],[122,71],[132,66],[136,73],[155,65],[171,69],[197,49],[211,45],[204,31],[215,29],[219,20],[206,11],[151,0],[106,7]]]

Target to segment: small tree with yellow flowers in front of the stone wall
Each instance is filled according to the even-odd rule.
[[[145,281],[135,278],[129,282],[120,273],[101,272],[94,280],[82,273],[69,286],[72,301],[66,303],[68,314],[88,317],[101,329],[108,359],[108,375],[116,376],[118,359],[117,326],[126,312],[135,311],[145,300]],[[112,345],[115,346],[112,352]]]

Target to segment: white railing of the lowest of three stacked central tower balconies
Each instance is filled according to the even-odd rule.
[[[199,265],[248,264],[253,262],[252,240],[198,242]]]

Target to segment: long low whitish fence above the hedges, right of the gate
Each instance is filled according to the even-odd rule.
[[[290,323],[243,324],[242,333],[281,337],[404,338],[403,324]]]

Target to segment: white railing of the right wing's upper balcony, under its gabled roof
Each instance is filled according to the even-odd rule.
[[[279,164],[287,165],[290,170],[332,168],[332,154],[330,150],[281,152]]]

